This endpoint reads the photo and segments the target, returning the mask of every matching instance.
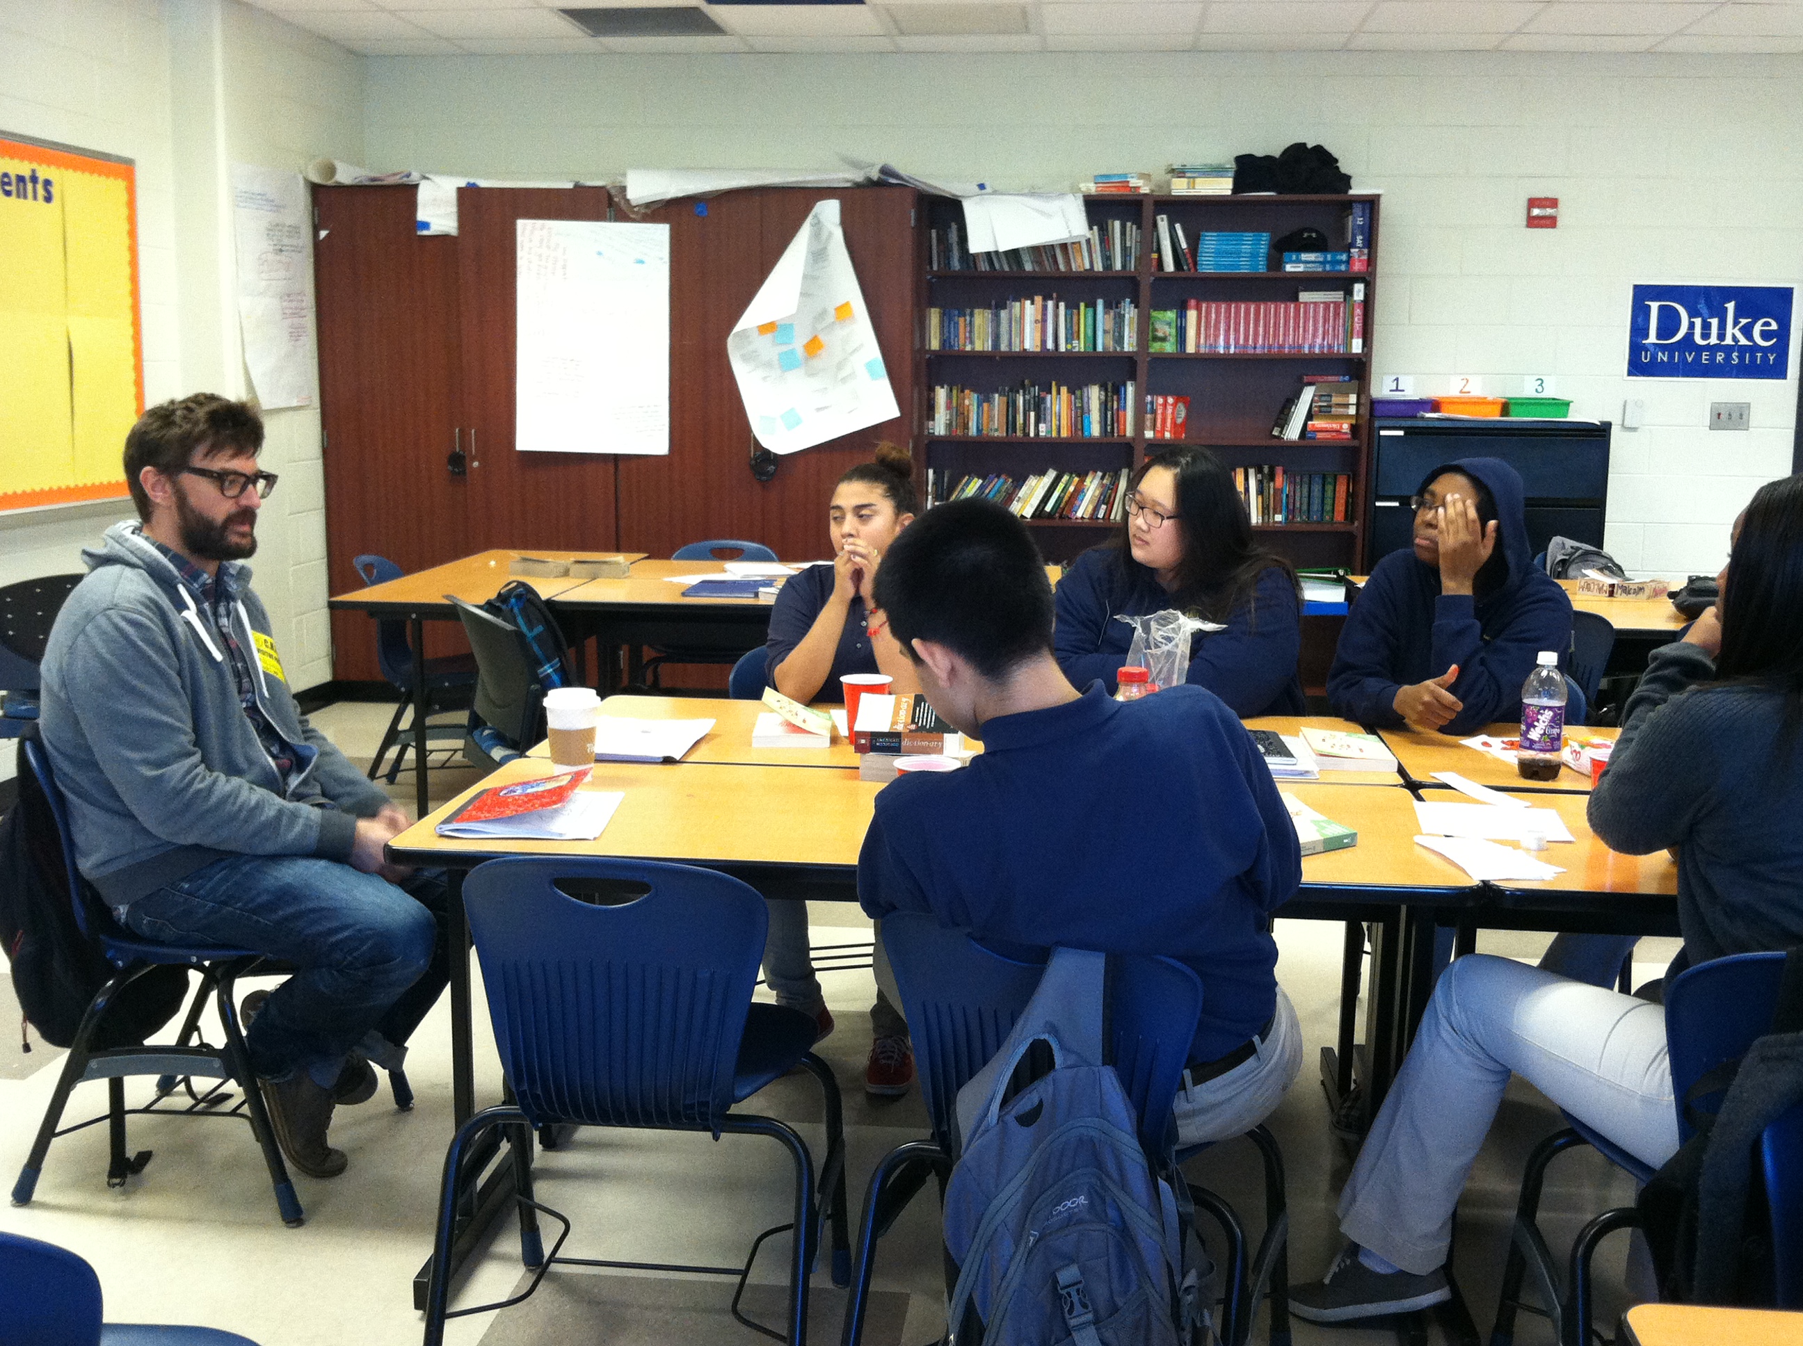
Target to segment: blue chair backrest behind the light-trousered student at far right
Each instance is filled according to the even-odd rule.
[[[1666,984],[1666,1043],[1680,1142],[1695,1130],[1684,1119],[1684,1096],[1706,1072],[1745,1056],[1756,1038],[1772,1031],[1783,973],[1783,953],[1731,953],[1686,968]],[[1716,1094],[1698,1105],[1715,1112],[1720,1101]]]

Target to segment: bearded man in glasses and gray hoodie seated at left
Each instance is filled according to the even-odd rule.
[[[40,732],[76,861],[126,928],[296,968],[245,998],[251,1067],[283,1153],[317,1178],[337,1103],[398,1069],[447,980],[440,874],[388,865],[407,816],[294,703],[242,562],[276,485],[256,411],[211,393],[124,441],[139,521],[83,551],[43,652]]]

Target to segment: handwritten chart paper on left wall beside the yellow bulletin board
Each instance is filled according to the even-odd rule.
[[[256,164],[231,166],[243,362],[265,411],[319,402],[314,346],[314,243],[307,182]]]

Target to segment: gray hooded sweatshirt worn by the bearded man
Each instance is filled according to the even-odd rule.
[[[76,863],[106,903],[126,906],[225,856],[348,859],[357,818],[388,795],[301,717],[251,569],[224,562],[220,577],[258,705],[294,746],[287,782],[213,623],[139,524],[114,524],[81,559],[88,577],[43,650],[40,732],[69,800]]]

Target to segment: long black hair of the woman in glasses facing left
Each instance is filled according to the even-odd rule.
[[[1284,578],[1300,600],[1295,568],[1253,541],[1246,501],[1240,499],[1233,470],[1226,463],[1201,445],[1167,449],[1139,465],[1130,481],[1132,490],[1139,490],[1145,474],[1154,467],[1168,467],[1177,477],[1183,559],[1177,562],[1177,584],[1170,591],[1172,605],[1210,622],[1226,622],[1242,605],[1251,604],[1258,577],[1271,568],[1284,571]],[[1123,566],[1145,569],[1132,559],[1130,528],[1132,521],[1121,515],[1120,533],[1111,546],[1120,550]],[[1253,622],[1257,623],[1257,613]]]

